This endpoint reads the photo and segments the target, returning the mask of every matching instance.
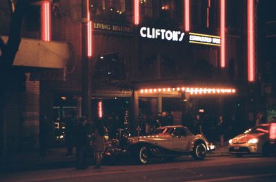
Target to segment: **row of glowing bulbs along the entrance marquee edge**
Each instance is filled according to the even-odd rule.
[[[173,87],[173,88],[167,88],[167,89],[140,89],[139,93],[157,93],[163,92],[163,93],[191,93],[191,94],[234,94],[236,93],[236,89],[233,88],[198,88],[198,87]]]

